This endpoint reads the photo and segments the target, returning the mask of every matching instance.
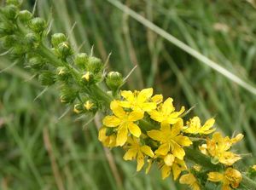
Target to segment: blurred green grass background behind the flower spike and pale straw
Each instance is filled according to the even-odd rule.
[[[256,83],[253,0],[121,2],[247,83]],[[32,6],[33,1],[24,1],[24,8]],[[69,34],[76,51],[88,53],[94,45],[102,60],[112,52],[108,71],[126,75],[137,65],[125,89],[152,86],[172,96],[177,107],[196,106],[190,116],[215,116],[225,135],[245,134],[236,151],[246,161],[237,167],[255,163],[255,95],[108,1],[38,0],[37,14],[53,19],[52,32]],[[10,64],[8,57],[0,58],[1,69]],[[83,128],[87,119],[72,112],[60,119],[67,107],[54,88],[34,101],[43,87],[31,77],[23,66],[1,73],[0,189],[185,189],[171,177],[162,181],[157,168],[148,176],[137,173],[134,162],[122,160],[122,152],[103,149],[96,138],[97,120]]]

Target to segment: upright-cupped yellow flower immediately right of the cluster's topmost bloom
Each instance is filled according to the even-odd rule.
[[[152,110],[148,112],[150,118],[154,119],[155,121],[167,124],[175,124],[178,121],[178,117],[185,111],[185,108],[182,107],[179,112],[174,112],[175,107],[172,105],[172,98],[168,98],[160,107],[156,110]]]

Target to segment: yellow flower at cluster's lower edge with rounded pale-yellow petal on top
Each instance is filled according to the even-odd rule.
[[[175,158],[171,153],[168,153],[164,158],[163,161],[160,162],[161,166],[161,176],[162,179],[166,179],[166,177],[170,176],[171,170],[173,179],[177,180],[177,177],[183,170],[187,170],[187,166],[184,160]]]

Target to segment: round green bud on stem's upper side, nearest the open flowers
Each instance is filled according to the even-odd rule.
[[[124,78],[119,72],[108,72],[106,83],[109,89],[116,91],[123,85]]]

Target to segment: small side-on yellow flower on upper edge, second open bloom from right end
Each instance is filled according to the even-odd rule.
[[[214,118],[210,118],[207,120],[207,122],[201,126],[200,118],[194,117],[191,118],[188,122],[187,125],[188,127],[184,128],[185,133],[191,133],[191,134],[210,134],[216,129],[211,129],[213,124],[215,123]]]

